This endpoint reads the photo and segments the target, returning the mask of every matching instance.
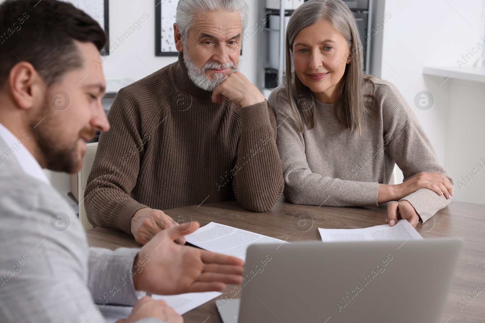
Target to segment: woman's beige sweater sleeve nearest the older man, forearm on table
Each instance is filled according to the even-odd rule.
[[[341,180],[314,173],[307,163],[305,140],[292,121],[283,88],[268,99],[278,123],[276,143],[283,163],[284,195],[295,204],[325,206],[377,205],[379,183]]]

